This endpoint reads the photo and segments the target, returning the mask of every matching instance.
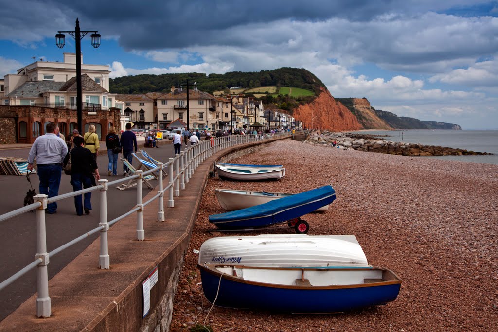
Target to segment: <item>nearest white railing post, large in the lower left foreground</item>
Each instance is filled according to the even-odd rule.
[[[48,296],[48,263],[50,258],[47,252],[47,233],[45,228],[45,209],[47,208],[47,195],[36,195],[35,202],[40,202],[41,206],[36,209],[36,259],[41,258],[36,270],[37,290],[36,297],[36,317],[50,317],[52,313],[50,297]]]

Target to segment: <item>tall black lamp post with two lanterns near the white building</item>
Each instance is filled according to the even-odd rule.
[[[78,113],[78,130],[83,133],[83,101],[82,101],[82,88],[81,88],[81,39],[89,32],[93,32],[90,36],[92,38],[92,46],[97,48],[100,46],[100,34],[98,31],[81,31],[80,21],[76,18],[76,26],[74,31],[58,31],[55,35],[55,44],[59,48],[63,48],[66,44],[66,36],[63,32],[69,33],[76,41],[76,104]]]

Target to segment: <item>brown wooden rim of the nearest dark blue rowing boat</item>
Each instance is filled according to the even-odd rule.
[[[204,265],[204,264],[197,264],[199,269],[204,270],[205,272],[214,275],[218,278],[225,278],[227,280],[241,283],[241,284],[247,284],[247,285],[252,285],[252,286],[260,286],[260,287],[269,287],[269,288],[284,288],[284,289],[289,289],[289,290],[335,290],[335,289],[349,289],[349,288],[367,288],[367,287],[378,287],[378,286],[389,286],[389,285],[401,285],[401,278],[399,278],[396,273],[393,271],[383,268],[383,267],[374,267],[372,266],[371,268],[345,268],[341,269],[344,271],[361,271],[361,270],[381,270],[382,272],[388,272],[392,274],[392,279],[390,280],[385,280],[385,281],[380,281],[380,282],[372,282],[372,283],[367,283],[367,284],[351,284],[351,285],[329,285],[329,286],[296,286],[296,285],[280,285],[280,284],[270,284],[270,283],[264,283],[264,282],[259,282],[259,281],[250,281],[250,280],[245,280],[241,277],[238,276],[233,276],[228,273],[222,272],[217,270],[217,267],[232,267],[232,268],[244,268],[244,269],[268,269],[268,270],[318,270],[318,271],[324,271],[323,269],[316,268],[316,267],[280,267],[280,268],[275,268],[275,267],[258,267],[258,266],[245,266],[245,265],[227,265],[227,264],[218,264],[218,265]],[[383,274],[383,273],[382,273]]]

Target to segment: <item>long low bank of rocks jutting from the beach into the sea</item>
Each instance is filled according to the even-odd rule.
[[[344,132],[322,131],[311,134],[304,143],[323,146],[387,153],[403,156],[447,156],[447,155],[486,155],[488,152],[476,152],[465,149],[422,145],[418,143],[393,142],[371,135],[350,134]]]

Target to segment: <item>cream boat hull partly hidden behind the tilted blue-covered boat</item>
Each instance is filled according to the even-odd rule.
[[[250,208],[256,205],[278,200],[282,197],[289,197],[289,193],[267,193],[274,196],[264,195],[264,192],[249,190],[215,189],[218,202],[223,209],[235,211]],[[324,212],[329,210],[329,204],[315,211]]]

